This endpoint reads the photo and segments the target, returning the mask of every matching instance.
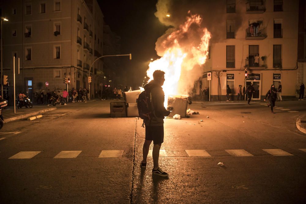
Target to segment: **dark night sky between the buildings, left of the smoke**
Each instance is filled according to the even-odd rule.
[[[104,20],[121,37],[121,54],[132,53],[132,61],[122,59],[131,84],[140,86],[150,59],[158,56],[155,42],[167,30],[154,13],[157,0],[98,1]]]

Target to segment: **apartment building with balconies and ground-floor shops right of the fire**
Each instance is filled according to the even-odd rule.
[[[218,33],[212,32],[209,57],[203,77],[195,83],[196,94],[210,87],[211,100],[226,100],[226,85],[237,100],[236,88],[255,88],[254,100],[261,100],[271,84],[282,84],[283,98],[296,97],[298,0],[218,1],[222,16]],[[214,31],[214,30],[213,30]],[[211,81],[207,73],[211,72]],[[245,76],[245,73],[247,76]]]

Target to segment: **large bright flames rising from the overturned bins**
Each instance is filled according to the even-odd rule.
[[[156,43],[156,51],[161,58],[152,61],[147,76],[153,79],[155,70],[162,70],[165,83],[165,107],[170,95],[188,95],[195,80],[202,76],[203,65],[208,55],[208,43],[211,38],[206,28],[201,28],[200,15],[191,15],[190,11],[184,24],[172,29],[161,42]],[[163,37],[163,36],[162,36]]]

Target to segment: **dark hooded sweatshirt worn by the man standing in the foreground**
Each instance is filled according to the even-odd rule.
[[[144,120],[146,126],[163,126],[164,117],[168,116],[170,113],[164,107],[165,93],[162,87],[154,80],[144,85],[145,90],[151,90],[152,95],[152,111],[153,118],[151,121]]]

